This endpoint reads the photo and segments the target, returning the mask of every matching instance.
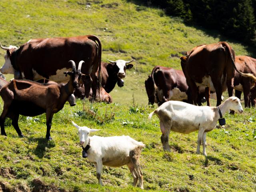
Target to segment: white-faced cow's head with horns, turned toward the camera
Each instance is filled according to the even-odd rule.
[[[110,60],[108,60],[108,61],[110,63],[114,64],[114,66],[113,66],[114,72],[117,74],[119,79],[122,79],[122,78],[125,78],[126,69],[130,69],[130,68],[133,67],[133,64],[129,64],[133,60],[125,61],[125,60],[119,59],[119,60],[116,60],[116,61],[110,61]]]

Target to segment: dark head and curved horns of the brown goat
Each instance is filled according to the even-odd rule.
[[[70,75],[70,81],[72,82],[72,85],[74,88],[78,88],[78,83],[81,79],[82,72],[81,72],[81,67],[84,61],[80,61],[78,64],[78,69],[76,70],[76,64],[73,60],[70,60],[69,63],[72,65],[72,71],[66,71],[64,74]]]

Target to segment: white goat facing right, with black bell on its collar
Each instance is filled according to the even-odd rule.
[[[242,113],[243,108],[237,97],[230,97],[219,106],[224,115],[229,110]],[[161,142],[164,150],[170,151],[169,134],[170,130],[188,134],[198,130],[197,150],[200,154],[200,145],[203,145],[203,154],[206,154],[206,133],[213,130],[220,118],[217,107],[195,106],[180,101],[168,101],[154,110],[148,118],[157,114],[160,119],[162,131]]]

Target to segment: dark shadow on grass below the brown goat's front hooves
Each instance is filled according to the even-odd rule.
[[[38,158],[50,158],[48,156],[45,156],[46,148],[52,148],[55,147],[54,141],[48,141],[46,138],[28,138],[30,142],[37,142],[36,149],[33,151],[33,153],[38,156]]]

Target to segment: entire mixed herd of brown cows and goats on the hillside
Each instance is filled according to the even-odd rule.
[[[109,93],[116,83],[124,86],[126,69],[133,67],[130,64],[133,60],[101,62],[102,45],[98,37],[93,35],[32,39],[20,47],[4,47],[1,44],[0,47],[6,50],[5,63],[0,72],[14,74],[10,82],[0,77],[0,96],[4,101],[0,116],[2,135],[6,135],[6,117],[12,119],[12,125],[22,137],[18,126],[19,115],[46,113],[46,138],[51,140],[53,115],[64,107],[66,101],[74,106],[76,96],[92,100],[99,98],[111,103]],[[214,129],[222,114],[228,110],[243,112],[240,104],[242,91],[245,107],[255,106],[256,60],[248,56],[235,56],[234,50],[226,42],[196,46],[180,60],[182,71],[156,66],[145,81],[149,104],[157,103],[160,106],[149,118],[153,114],[160,118],[164,150],[170,150],[170,130],[181,133],[198,130],[197,153],[202,143],[203,154],[206,155],[206,133]],[[233,89],[238,98],[232,97]],[[221,104],[222,93],[226,90],[230,98]],[[216,98],[219,107],[208,107],[210,97]],[[194,106],[201,105],[204,99],[208,106]],[[139,163],[144,147],[142,142],[128,136],[89,137],[88,134],[96,130],[73,124],[80,134],[83,156],[95,164],[100,184],[102,164],[126,164],[134,178],[134,186],[140,180],[140,187],[143,188]],[[110,153],[112,149],[116,151]]]

